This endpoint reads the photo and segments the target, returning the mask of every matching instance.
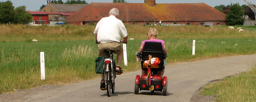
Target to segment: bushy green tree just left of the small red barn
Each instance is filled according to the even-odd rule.
[[[28,24],[32,22],[32,15],[25,11],[26,8],[25,6],[16,7],[14,24]]]

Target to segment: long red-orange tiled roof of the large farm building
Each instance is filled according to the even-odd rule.
[[[107,17],[109,10],[119,10],[118,19],[126,21],[225,21],[226,14],[204,3],[157,4],[144,3],[91,3],[66,18],[67,21],[99,21]]]

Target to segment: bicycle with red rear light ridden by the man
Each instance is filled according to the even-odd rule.
[[[106,90],[108,97],[110,97],[110,92],[115,93],[115,60],[113,59],[114,51],[106,49],[104,50],[106,53],[108,53],[108,58],[104,59],[104,81],[106,83]]]

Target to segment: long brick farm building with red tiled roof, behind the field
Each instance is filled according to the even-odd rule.
[[[118,19],[125,24],[152,25],[226,25],[225,13],[204,3],[156,4],[155,0],[144,3],[91,3],[71,14],[65,20],[69,24],[96,24],[107,17],[109,10],[117,8]]]

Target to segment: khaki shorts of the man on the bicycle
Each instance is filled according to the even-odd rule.
[[[105,49],[110,49],[110,50],[114,50],[115,54],[120,53],[121,51],[123,51],[123,47],[121,42],[106,42],[106,43],[99,43],[98,44],[98,48],[99,48],[99,57],[102,56],[107,56],[108,57],[108,53],[104,52]]]

